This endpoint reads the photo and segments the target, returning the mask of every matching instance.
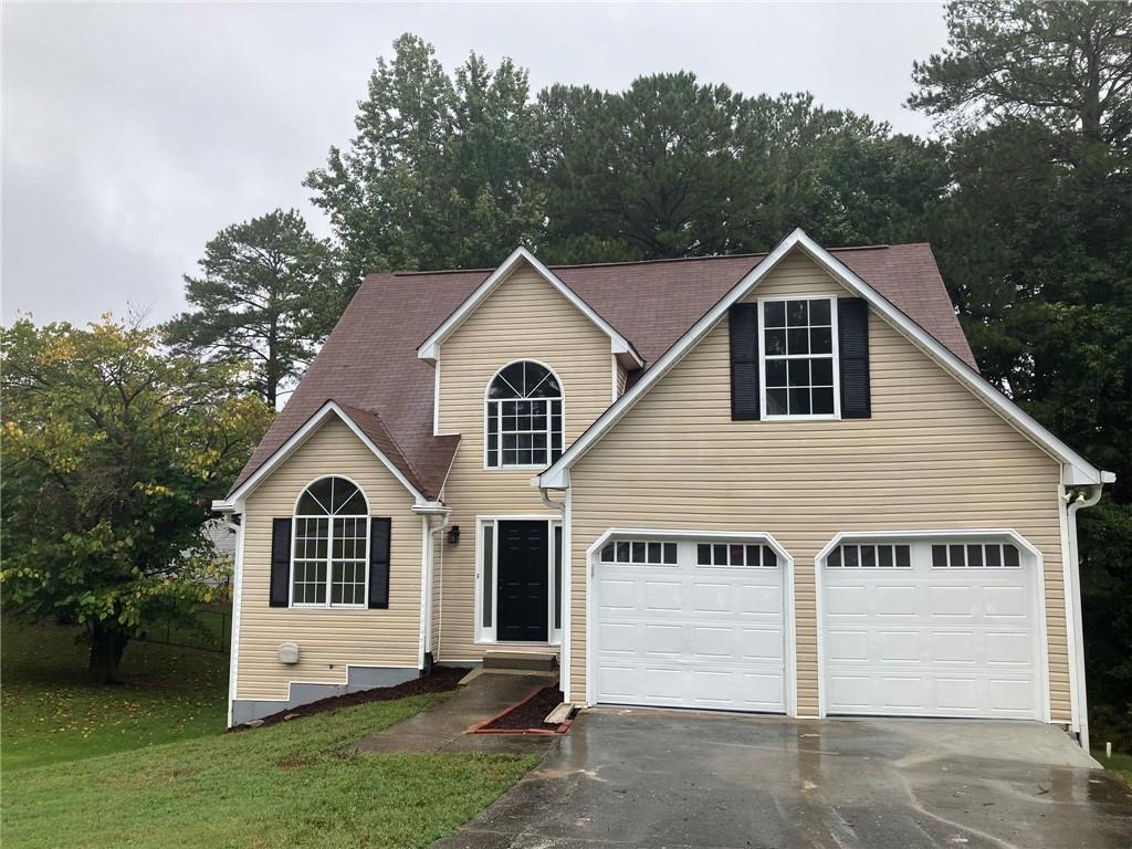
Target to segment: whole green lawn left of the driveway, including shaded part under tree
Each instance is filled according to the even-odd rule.
[[[223,734],[224,654],[131,643],[89,687],[72,631],[3,620],[2,662],[5,849],[427,846],[538,762],[342,754],[447,694]]]

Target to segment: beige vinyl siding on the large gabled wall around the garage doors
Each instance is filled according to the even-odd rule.
[[[789,257],[752,297],[844,295]],[[723,319],[571,470],[572,698],[585,697],[585,552],[610,526],[764,531],[796,563],[798,709],[817,712],[814,558],[841,531],[1012,528],[1043,554],[1050,705],[1070,717],[1060,468],[876,315],[873,418],[730,419]]]

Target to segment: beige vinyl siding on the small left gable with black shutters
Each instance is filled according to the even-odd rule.
[[[267,606],[272,520],[291,516],[317,478],[341,474],[366,495],[374,516],[392,518],[389,608],[290,609]],[[343,422],[328,420],[248,497],[237,698],[286,698],[290,681],[345,684],[346,666],[418,666],[421,517],[412,496]],[[299,643],[286,667],[278,644]]]

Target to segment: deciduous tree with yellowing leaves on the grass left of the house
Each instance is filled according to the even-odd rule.
[[[110,681],[142,626],[211,598],[201,526],[273,411],[232,363],[166,355],[110,317],[24,318],[0,348],[5,611],[80,625],[92,679]]]

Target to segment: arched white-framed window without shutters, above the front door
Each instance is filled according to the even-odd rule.
[[[563,389],[538,362],[513,362],[488,386],[487,465],[544,468],[563,453]]]

